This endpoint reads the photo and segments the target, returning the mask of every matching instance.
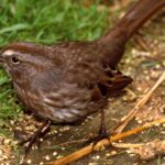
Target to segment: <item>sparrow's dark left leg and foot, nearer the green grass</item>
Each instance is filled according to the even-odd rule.
[[[51,121],[46,120],[42,123],[42,125],[26,140],[21,141],[19,144],[23,145],[26,143],[25,145],[25,154],[31,150],[32,145],[36,142],[38,143],[40,138],[43,138],[47,131],[50,130],[51,127]]]

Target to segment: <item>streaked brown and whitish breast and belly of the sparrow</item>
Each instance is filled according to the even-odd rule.
[[[99,110],[100,106],[99,101],[91,101],[90,92],[85,90],[58,90],[43,95],[19,90],[18,96],[35,116],[55,123],[77,121]]]

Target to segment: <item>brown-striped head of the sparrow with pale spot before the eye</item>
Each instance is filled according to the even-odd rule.
[[[20,80],[48,70],[59,64],[54,59],[53,50],[50,46],[32,43],[13,43],[0,52],[0,63],[13,80]]]

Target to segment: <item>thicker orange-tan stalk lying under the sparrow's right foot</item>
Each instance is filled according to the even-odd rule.
[[[152,128],[153,125],[155,124],[161,124],[161,123],[165,123],[165,118],[163,119],[160,119],[160,120],[155,120],[153,122],[150,122],[150,123],[146,123],[140,128],[135,128],[133,130],[130,130],[130,131],[127,131],[127,132],[123,132],[121,134],[117,134],[117,135],[113,135],[110,138],[110,141],[111,142],[114,142],[114,141],[118,141],[118,140],[121,140],[123,138],[127,138],[129,135],[132,135],[132,134],[135,134],[135,133],[139,133],[145,129],[148,129],[148,128]],[[66,157],[63,157],[61,160],[57,160],[55,162],[51,162],[51,163],[47,163],[47,164],[53,164],[53,165],[66,165],[66,164],[69,164],[72,162],[75,162],[88,154],[90,154],[92,151],[99,151],[101,147],[103,146],[107,146],[109,145],[109,141],[108,140],[102,140],[100,142],[98,142],[96,145],[95,145],[95,148],[92,145],[88,145],[79,151],[76,151],[74,152],[73,154],[66,156]]]

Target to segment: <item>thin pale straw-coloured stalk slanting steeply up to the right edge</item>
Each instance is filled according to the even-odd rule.
[[[152,96],[152,94],[155,91],[155,89],[162,84],[162,81],[165,79],[165,72],[161,75],[156,84],[153,86],[153,88],[135,105],[135,107],[129,112],[129,114],[124,118],[122,118],[121,123],[117,127],[114,133],[121,133],[123,129],[129,124],[129,122],[135,117],[135,114],[141,110],[148,100],[148,98]]]

